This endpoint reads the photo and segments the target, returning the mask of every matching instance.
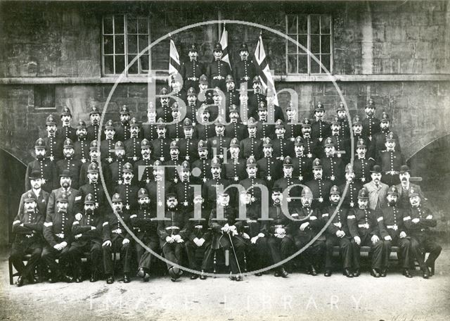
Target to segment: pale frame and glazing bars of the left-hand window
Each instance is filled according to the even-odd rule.
[[[117,16],[123,16],[124,19],[124,32],[123,32],[123,37],[124,37],[124,53],[115,53],[116,50],[116,46],[115,46],[115,37],[116,35],[122,35],[122,34],[116,34],[115,33],[115,19],[117,18]],[[113,33],[108,33],[105,34],[105,18],[112,18],[113,19]],[[129,60],[128,60],[128,56],[130,55],[137,55],[140,53],[139,51],[139,36],[141,34],[144,33],[139,33],[139,30],[136,31],[136,33],[130,34],[133,35],[135,37],[137,37],[137,42],[136,42],[136,46],[137,46],[137,53],[129,53],[129,49],[128,49],[128,20],[129,18],[133,18],[133,19],[139,19],[139,18],[145,18],[147,21],[147,31],[148,33],[146,33],[146,35],[148,36],[148,44],[147,46],[149,46],[151,44],[151,38],[150,38],[150,16],[148,15],[131,15],[130,13],[113,13],[113,14],[108,14],[108,15],[103,15],[101,18],[101,75],[102,77],[115,77],[117,75],[121,75],[122,73],[124,73],[127,65],[129,64]],[[105,36],[113,36],[113,53],[106,53],[105,54]],[[105,73],[105,56],[113,56],[113,66],[114,66],[114,73]],[[124,56],[124,70],[121,73],[116,73],[115,70],[115,59],[116,56]],[[148,77],[148,72],[151,70],[151,64],[152,64],[152,60],[151,60],[151,50],[148,51],[148,70],[144,70],[143,68],[141,68],[141,59],[137,59],[137,61],[135,62],[137,63],[137,68],[138,68],[138,72],[137,73],[130,73],[129,69],[127,70],[126,73],[126,77]]]

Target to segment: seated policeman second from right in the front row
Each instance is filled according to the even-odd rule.
[[[386,274],[386,271],[389,269],[389,256],[393,245],[399,247],[397,258],[399,258],[401,267],[403,267],[403,275],[405,277],[413,277],[409,273],[411,241],[409,237],[406,237],[406,228],[403,223],[406,212],[397,207],[398,195],[397,187],[392,185],[387,191],[387,206],[380,208],[376,213],[380,236],[385,244],[382,274],[383,272]]]

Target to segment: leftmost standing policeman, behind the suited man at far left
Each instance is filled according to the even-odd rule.
[[[41,187],[44,191],[50,193],[53,189],[58,188],[58,168],[56,163],[46,158],[46,144],[44,139],[37,139],[34,143],[34,154],[36,159],[28,163],[27,171],[25,172],[25,191],[32,188],[30,182],[30,175],[32,172],[39,172],[41,179]]]

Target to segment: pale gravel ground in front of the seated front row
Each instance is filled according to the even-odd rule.
[[[450,246],[437,260],[437,275],[423,279],[399,272],[375,279],[364,272],[347,279],[301,273],[191,281],[168,277],[130,284],[8,284],[0,260],[0,320],[449,320]]]

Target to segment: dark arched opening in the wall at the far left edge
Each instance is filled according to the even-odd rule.
[[[19,208],[20,196],[25,192],[26,165],[11,153],[0,149],[0,246],[8,246],[11,223]]]

